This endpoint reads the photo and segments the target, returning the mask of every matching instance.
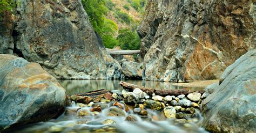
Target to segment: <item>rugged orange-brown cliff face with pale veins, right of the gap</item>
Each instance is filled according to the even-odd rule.
[[[149,0],[138,27],[146,80],[218,79],[256,48],[252,1]]]

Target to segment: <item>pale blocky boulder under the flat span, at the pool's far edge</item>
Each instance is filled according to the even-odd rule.
[[[142,79],[142,68],[138,62],[124,61],[121,63],[122,72],[126,78]]]

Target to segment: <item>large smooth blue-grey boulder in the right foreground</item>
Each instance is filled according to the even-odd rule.
[[[203,126],[211,132],[256,132],[256,50],[248,51],[220,77],[203,101]]]

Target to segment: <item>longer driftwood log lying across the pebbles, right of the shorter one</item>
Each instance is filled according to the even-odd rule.
[[[157,90],[154,88],[147,88],[145,86],[138,86],[138,85],[134,85],[134,84],[130,84],[127,82],[119,82],[119,85],[121,85],[124,89],[129,90],[129,91],[133,91],[135,88],[139,88],[140,90],[142,90],[143,92],[146,92],[148,95],[152,95],[153,93],[155,93],[156,95],[160,95],[165,97],[166,95],[180,95],[180,94],[189,94],[192,93],[190,92],[188,89],[177,89],[177,90]],[[201,94],[204,93],[204,91],[195,91],[195,92],[199,92]]]

